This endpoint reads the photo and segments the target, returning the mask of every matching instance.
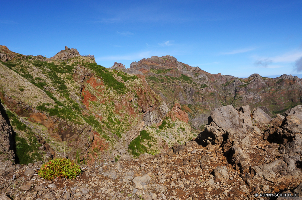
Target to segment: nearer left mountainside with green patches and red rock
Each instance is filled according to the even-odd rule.
[[[179,104],[167,108],[140,71],[106,69],[68,47],[52,58],[4,50],[3,58],[14,59],[0,63],[0,98],[17,163],[75,159],[77,151],[83,164],[115,162],[128,151],[166,151],[199,133]]]

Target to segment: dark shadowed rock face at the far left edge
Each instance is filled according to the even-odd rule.
[[[0,103],[0,161],[5,159],[14,161],[13,133],[6,117],[5,110]]]

